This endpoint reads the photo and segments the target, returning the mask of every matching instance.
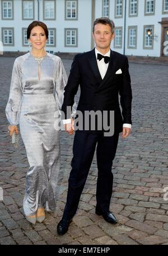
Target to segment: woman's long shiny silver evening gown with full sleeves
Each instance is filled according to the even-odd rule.
[[[37,60],[27,53],[15,60],[6,116],[11,125],[20,125],[30,164],[24,197],[26,216],[35,215],[43,206],[46,211],[55,209],[60,143],[54,112],[62,107],[66,83],[58,56],[46,53]]]

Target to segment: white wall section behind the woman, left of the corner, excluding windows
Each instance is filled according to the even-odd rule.
[[[0,40],[3,27],[14,28],[14,46],[4,46],[4,51],[29,51],[22,46],[22,28],[27,28],[32,20],[22,20],[22,1],[14,0],[14,20],[2,20],[0,10]],[[1,6],[1,1],[0,1]],[[0,7],[1,8],[1,7]],[[91,48],[91,0],[78,0],[78,20],[65,20],[65,2],[56,0],[56,20],[43,20],[43,1],[40,0],[40,21],[48,28],[56,28],[56,47],[46,47],[54,52],[85,52]],[[38,20],[38,1],[35,1],[35,20]],[[78,47],[64,47],[64,28],[78,29]]]

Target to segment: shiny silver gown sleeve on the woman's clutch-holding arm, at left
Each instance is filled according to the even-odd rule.
[[[18,125],[20,116],[20,107],[22,100],[22,89],[21,89],[21,70],[18,67],[17,60],[15,60],[12,71],[10,97],[6,106],[7,120],[11,125]]]

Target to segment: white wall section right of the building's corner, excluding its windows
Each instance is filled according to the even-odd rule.
[[[125,3],[125,0],[123,1]],[[162,14],[162,0],[156,0],[155,15],[144,16],[144,0],[138,1],[138,16],[129,17],[129,0],[127,0],[127,16],[126,16],[126,32],[125,32],[125,54],[133,56],[152,56],[159,57],[161,51],[161,21],[162,17],[168,17],[167,14]],[[114,51],[124,52],[124,10],[123,6],[123,18],[115,19],[115,0],[110,0],[110,19],[115,23],[116,27],[123,27],[123,43],[122,48],[114,48],[114,42],[111,43],[111,48]],[[102,1],[96,0],[95,16],[102,16]],[[143,49],[143,26],[154,25],[153,49]],[[138,26],[137,31],[137,49],[128,49],[128,26]]]

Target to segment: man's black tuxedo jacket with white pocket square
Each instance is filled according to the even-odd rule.
[[[65,118],[71,118],[67,113],[67,106],[73,106],[74,95],[80,85],[81,95],[77,110],[82,113],[97,110],[114,111],[115,132],[122,132],[123,124],[132,124],[132,89],[128,67],[126,56],[111,51],[108,70],[102,79],[97,66],[95,49],[77,54],[64,92],[62,111],[65,113]],[[119,69],[122,70],[122,74],[115,74]]]

